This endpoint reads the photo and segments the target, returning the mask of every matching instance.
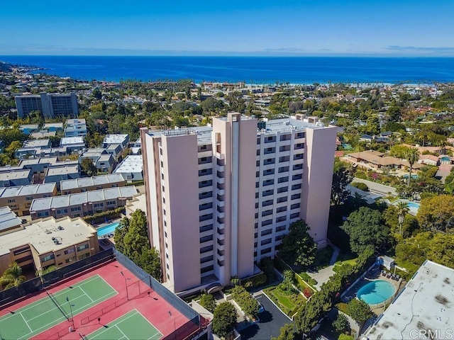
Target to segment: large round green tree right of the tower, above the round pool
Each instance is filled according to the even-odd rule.
[[[384,225],[382,214],[367,207],[352,212],[341,229],[350,237],[350,249],[356,254],[361,254],[367,246],[372,246],[378,253],[386,250],[391,243],[389,228]]]

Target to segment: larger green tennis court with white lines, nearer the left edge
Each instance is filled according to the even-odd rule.
[[[70,318],[71,307],[76,315],[116,294],[101,276],[92,276],[52,294],[55,302],[49,296],[43,297],[0,317],[1,338],[28,339]]]

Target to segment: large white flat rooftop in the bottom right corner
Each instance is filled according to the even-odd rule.
[[[453,324],[454,269],[426,260],[362,339],[449,339]]]

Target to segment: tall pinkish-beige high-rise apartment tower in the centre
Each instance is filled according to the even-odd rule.
[[[336,128],[229,113],[212,127],[141,130],[151,242],[175,292],[257,273],[289,225],[326,245]]]

